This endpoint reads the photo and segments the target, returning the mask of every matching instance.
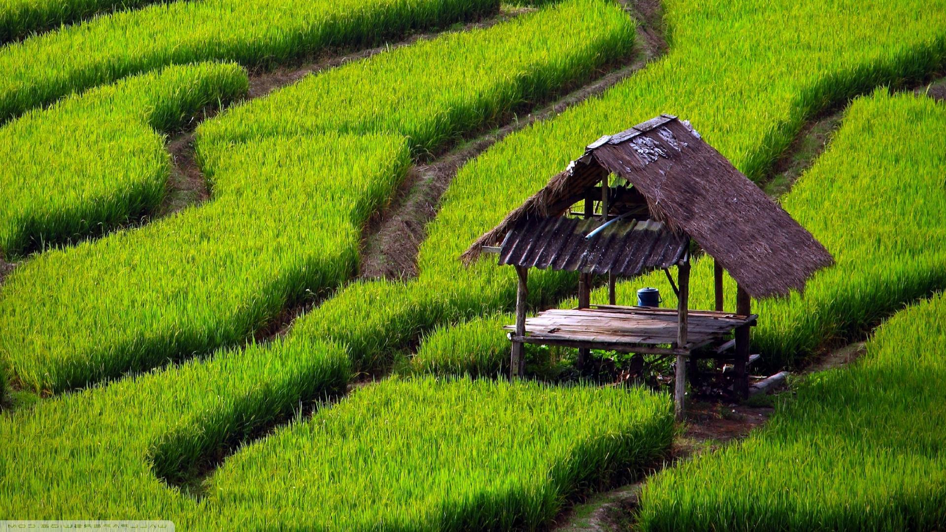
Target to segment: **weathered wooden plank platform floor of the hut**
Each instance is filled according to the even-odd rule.
[[[688,344],[681,348],[675,346],[676,310],[596,305],[588,309],[544,310],[526,318],[524,336],[510,336],[510,339],[544,346],[689,354],[692,349],[723,342],[735,328],[753,326],[756,319],[755,314],[741,316],[717,310],[690,310]],[[505,328],[515,330],[514,326]]]

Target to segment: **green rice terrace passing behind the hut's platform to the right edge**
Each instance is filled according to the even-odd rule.
[[[946,141],[937,136],[946,133],[946,122],[927,116],[937,113],[932,100],[904,98],[912,97],[892,98],[881,92],[872,98],[879,103],[870,113],[855,106],[845,115],[832,147],[781,199],[789,214],[828,248],[835,265],[810,279],[803,294],[753,302],[753,311],[761,316],[753,330],[753,352],[762,354],[765,367],[804,365],[820,348],[860,340],[904,304],[946,289],[946,228],[941,223]],[[925,125],[927,141],[902,143],[891,153],[887,139],[898,133],[902,138],[920,136],[913,127],[897,131],[877,126],[898,119]],[[712,308],[712,275],[710,260],[693,265],[694,308]],[[619,283],[618,302],[633,303],[637,289],[644,286],[664,294],[663,306],[676,304],[662,273]],[[736,287],[728,275],[725,291],[726,308],[735,310]],[[606,288],[592,292],[591,301],[605,303]],[[573,307],[574,301],[560,306]],[[503,319],[505,323],[497,323]],[[495,372],[508,364],[508,353],[499,349],[503,343],[508,347],[505,331],[495,326],[514,323],[510,320],[507,314],[439,329],[425,340],[431,348],[422,347],[420,360],[412,364],[436,373],[446,368],[479,373],[480,367]]]

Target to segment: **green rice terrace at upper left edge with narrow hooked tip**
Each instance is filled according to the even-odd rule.
[[[0,128],[0,255],[101,235],[165,197],[164,133],[246,93],[236,64],[172,66],[32,111]]]

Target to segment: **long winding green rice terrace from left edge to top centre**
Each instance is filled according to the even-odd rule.
[[[0,354],[26,386],[58,392],[241,342],[353,275],[361,225],[409,151],[549,98],[633,44],[621,9],[571,0],[310,76],[205,122],[196,149],[212,200],[17,268],[0,293]]]

